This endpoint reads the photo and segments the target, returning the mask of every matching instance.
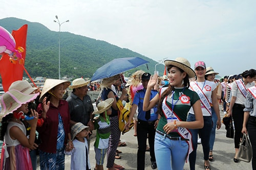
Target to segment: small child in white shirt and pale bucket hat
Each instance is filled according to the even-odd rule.
[[[71,170],[91,169],[87,143],[88,131],[89,127],[84,126],[82,123],[76,123],[71,127],[74,148],[69,152],[65,152],[66,155],[71,155]]]

